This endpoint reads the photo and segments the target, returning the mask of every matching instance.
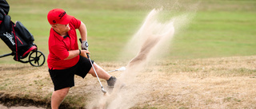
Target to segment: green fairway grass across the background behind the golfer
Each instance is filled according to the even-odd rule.
[[[88,30],[93,60],[113,61],[126,43],[142,25],[154,7],[170,10],[171,16],[195,13],[186,28],[175,33],[170,45],[169,59],[193,59],[217,56],[256,55],[256,14],[252,0],[230,1],[39,1],[9,0],[10,16],[34,35],[38,50],[48,55],[50,25],[46,19],[49,10],[62,8],[67,14],[82,20]],[[198,5],[198,6],[196,6]],[[166,13],[168,14],[168,13]],[[168,15],[166,15],[168,16]],[[170,17],[170,16],[169,16]],[[10,49],[1,42],[0,54]],[[0,63],[14,63],[13,57],[2,58]]]

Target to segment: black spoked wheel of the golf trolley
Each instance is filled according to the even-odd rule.
[[[45,63],[46,57],[45,55],[40,51],[33,51],[30,53],[29,56],[30,64],[34,67],[40,67],[42,64]]]

